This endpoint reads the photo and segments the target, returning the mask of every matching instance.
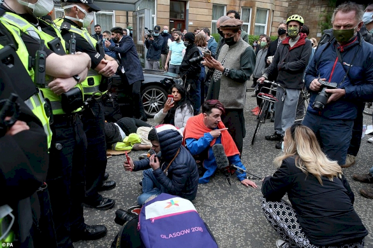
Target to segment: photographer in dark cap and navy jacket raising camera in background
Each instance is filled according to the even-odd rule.
[[[148,30],[149,32],[151,30]],[[153,33],[145,34],[146,53],[145,68],[159,70],[159,60],[161,59],[163,38],[160,36],[161,27],[156,25]]]

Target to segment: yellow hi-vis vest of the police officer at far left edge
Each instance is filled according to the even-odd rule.
[[[0,22],[4,25],[4,27],[9,31],[9,33],[13,36],[15,42],[17,43],[18,49],[16,51],[18,57],[22,61],[22,64],[24,65],[26,71],[28,72],[28,75],[30,75],[31,80],[34,80],[34,71],[33,69],[28,70],[28,52],[26,49],[26,46],[24,45],[21,37],[20,37],[20,30],[15,28],[14,26],[8,24],[6,21],[4,21],[3,17],[0,16]],[[0,49],[2,49],[3,46],[0,45]],[[39,118],[41,121],[44,132],[47,135],[47,141],[48,141],[48,149],[51,147],[52,142],[52,130],[49,125],[49,119],[50,117],[45,112],[45,104],[44,97],[40,90],[38,90],[38,93],[32,95],[30,98],[24,101],[25,104],[31,109],[32,113],[36,115],[36,117]]]

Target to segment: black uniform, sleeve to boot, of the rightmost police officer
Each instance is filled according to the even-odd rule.
[[[80,28],[75,22],[64,18],[64,22]],[[71,40],[71,33],[64,29],[61,32],[66,42]],[[76,51],[87,53],[91,57],[91,69],[97,67],[103,59],[102,55],[97,53],[88,41],[81,35],[75,33]],[[84,131],[87,135],[88,150],[86,154],[86,197],[84,203],[86,206],[96,207],[97,209],[114,206],[115,201],[104,198],[98,193],[102,186],[103,175],[105,173],[106,142],[105,142],[105,116],[104,107],[101,99],[93,100],[90,109],[83,111],[82,121]],[[111,182],[115,183],[115,182]]]

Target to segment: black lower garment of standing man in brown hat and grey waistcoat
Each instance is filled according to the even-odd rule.
[[[242,108],[226,108],[225,115],[221,120],[225,127],[228,128],[237,149],[242,155],[243,139],[246,136],[244,110]]]

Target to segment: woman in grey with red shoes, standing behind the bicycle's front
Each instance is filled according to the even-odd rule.
[[[262,38],[262,40],[260,41],[260,46],[262,47],[262,49],[259,50],[259,52],[257,54],[255,69],[254,69],[254,72],[253,72],[253,77],[254,77],[253,82],[257,82],[258,79],[260,77],[262,77],[262,75],[263,75],[263,71],[266,68],[266,64],[267,64],[266,56],[267,56],[267,51],[268,51],[268,47],[270,46],[270,43],[271,43],[271,38],[268,37],[267,35],[264,36]],[[263,86],[269,87],[269,85],[267,85],[267,84],[260,83],[257,87],[257,90],[255,91],[255,96],[257,96],[259,94],[259,92],[263,92],[263,93],[270,92],[269,89],[262,88]],[[259,107],[260,107],[261,103],[262,103],[262,98],[257,97],[257,106],[251,110],[253,115],[259,115],[259,113],[260,113],[260,108]]]

